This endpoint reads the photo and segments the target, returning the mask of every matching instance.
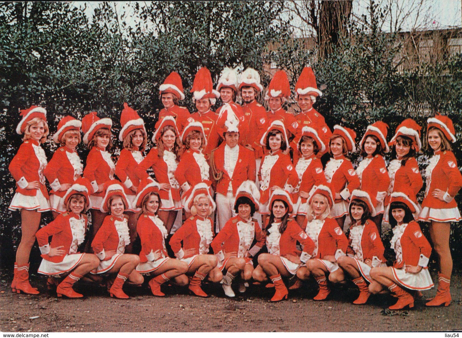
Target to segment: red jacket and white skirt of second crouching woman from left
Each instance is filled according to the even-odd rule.
[[[112,269],[119,257],[125,252],[125,246],[130,244],[128,233],[128,218],[118,218],[108,215],[91,242],[93,252],[101,260],[95,274],[108,272]],[[106,255],[108,251],[116,251],[112,256]],[[93,273],[93,272],[91,272]]]

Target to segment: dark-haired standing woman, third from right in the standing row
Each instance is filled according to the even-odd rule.
[[[356,168],[360,189],[366,191],[374,202],[375,214],[371,220],[377,225],[378,233],[382,234],[383,201],[387,196],[390,178],[387,172],[383,154],[390,151],[387,143],[388,124],[377,121],[367,126],[366,132],[359,142],[363,160]]]

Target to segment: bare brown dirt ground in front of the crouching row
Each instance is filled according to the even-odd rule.
[[[46,278],[32,276],[40,295],[13,294],[11,271],[0,271],[1,332],[351,332],[462,330],[462,271],[452,279],[450,307],[427,308],[424,292],[409,311],[384,310],[395,302],[390,295],[371,296],[365,306],[353,305],[353,285],[334,288],[328,301],[316,302],[315,283],[291,291],[289,299],[270,303],[274,289],[252,285],[235,299],[226,298],[221,285],[205,284],[207,299],[187,289],[163,287],[164,298],[150,295],[147,286],[128,287],[129,300],[109,297],[94,284],[78,283],[83,299],[58,299],[45,287]],[[435,277],[432,274],[432,277]],[[434,278],[436,280],[436,278]],[[116,314],[116,315],[115,315]],[[30,319],[30,317],[36,317]]]

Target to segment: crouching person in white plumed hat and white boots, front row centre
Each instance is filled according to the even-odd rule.
[[[255,256],[265,244],[265,235],[258,222],[252,218],[258,210],[259,199],[260,191],[256,184],[253,181],[244,181],[236,192],[234,210],[237,216],[225,223],[211,243],[219,261],[219,269],[226,270],[222,284],[228,297],[235,296],[231,289],[231,282],[239,272],[245,282],[252,278],[254,265],[251,256]],[[250,249],[254,238],[257,242]],[[245,288],[245,283],[240,283],[239,291],[245,292]]]

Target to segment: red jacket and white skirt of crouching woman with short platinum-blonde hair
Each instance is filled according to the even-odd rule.
[[[170,239],[170,247],[175,256],[191,266],[197,255],[207,255],[210,243],[213,240],[213,221],[210,217],[189,217],[183,225],[176,230]],[[183,242],[183,247],[181,246]],[[184,251],[194,249],[192,255],[185,255]]]

